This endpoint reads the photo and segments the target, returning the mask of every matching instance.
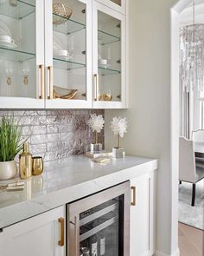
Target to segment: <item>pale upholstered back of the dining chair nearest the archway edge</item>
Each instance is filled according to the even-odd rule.
[[[194,142],[179,138],[179,181],[194,183],[196,169],[194,160]]]

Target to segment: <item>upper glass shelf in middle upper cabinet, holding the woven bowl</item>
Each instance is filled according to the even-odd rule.
[[[59,16],[59,15],[53,14],[53,16]],[[65,23],[63,23],[61,25],[53,25],[54,31],[56,31],[56,32],[70,35],[74,32],[84,30],[86,28],[86,25],[83,23],[73,21],[72,19],[67,19],[63,16],[59,16],[59,17],[62,19],[65,19]]]

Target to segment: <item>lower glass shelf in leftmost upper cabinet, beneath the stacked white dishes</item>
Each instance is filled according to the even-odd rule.
[[[7,49],[0,46],[0,59],[11,62],[25,62],[35,58],[35,54],[17,49]]]

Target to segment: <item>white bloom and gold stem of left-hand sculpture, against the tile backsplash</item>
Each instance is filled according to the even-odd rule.
[[[88,126],[95,133],[95,143],[98,143],[98,133],[104,128],[104,118],[103,115],[91,114],[91,118],[87,121]]]

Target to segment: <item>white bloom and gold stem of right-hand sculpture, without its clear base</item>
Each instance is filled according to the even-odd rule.
[[[113,117],[112,121],[111,121],[111,129],[112,132],[115,136],[117,136],[117,141],[118,141],[118,147],[120,148],[119,145],[119,139],[120,137],[123,138],[124,137],[124,133],[127,132],[127,121],[126,118],[121,118],[120,116],[117,117]]]

